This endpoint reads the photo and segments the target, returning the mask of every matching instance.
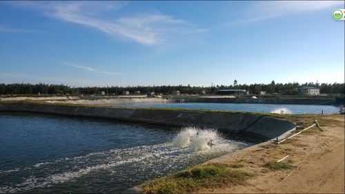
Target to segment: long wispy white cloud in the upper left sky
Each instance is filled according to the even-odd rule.
[[[105,34],[130,39],[144,45],[164,42],[173,34],[199,33],[205,30],[166,14],[135,14],[130,17],[104,19],[101,14],[119,10],[127,3],[122,1],[66,1],[12,3],[16,6],[37,8],[48,17],[95,28]]]

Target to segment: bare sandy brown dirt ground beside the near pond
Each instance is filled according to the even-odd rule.
[[[315,116],[316,117],[316,116]],[[324,129],[308,129],[282,144],[265,142],[207,163],[242,164],[254,176],[244,184],[202,189],[199,193],[344,193],[344,115],[317,116]],[[283,162],[292,169],[264,167]]]

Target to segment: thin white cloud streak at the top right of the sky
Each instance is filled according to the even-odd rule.
[[[323,10],[333,6],[344,6],[344,1],[253,1],[246,8],[250,17],[239,19],[226,25],[263,21],[298,12]]]

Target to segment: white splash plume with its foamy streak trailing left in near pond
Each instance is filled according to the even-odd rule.
[[[212,140],[212,144],[210,144],[210,140]],[[108,171],[116,174],[117,166],[121,165],[129,165],[128,168],[133,168],[131,166],[134,165],[137,166],[135,168],[151,170],[161,166],[162,170],[169,170],[180,164],[188,164],[191,159],[201,157],[201,155],[229,153],[247,145],[226,140],[214,129],[186,127],[172,141],[164,144],[110,149],[74,158],[40,162],[23,169],[14,169],[13,171],[26,171],[30,176],[26,177],[23,182],[0,187],[0,193],[24,192],[32,188],[50,187],[88,175],[91,172]],[[48,174],[42,175],[41,172]],[[10,174],[11,171],[8,173]]]

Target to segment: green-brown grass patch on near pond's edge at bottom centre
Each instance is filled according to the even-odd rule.
[[[195,166],[142,186],[144,193],[191,193],[199,188],[216,188],[224,185],[243,184],[253,174],[225,164]]]

